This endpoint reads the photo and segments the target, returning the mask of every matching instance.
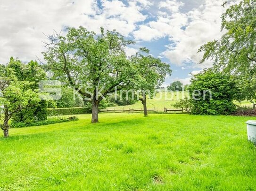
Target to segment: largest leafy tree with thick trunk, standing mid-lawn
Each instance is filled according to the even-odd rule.
[[[105,32],[101,28],[97,35],[80,26],[67,31],[66,37],[57,33],[48,37],[44,58],[58,79],[91,100],[91,122],[99,122],[102,96],[127,87],[133,79],[134,67],[124,52],[133,42],[115,30]]]

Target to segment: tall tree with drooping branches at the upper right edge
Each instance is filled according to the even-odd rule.
[[[233,3],[222,15],[221,39],[201,46],[200,63],[212,60],[215,70],[236,76],[243,99],[256,98],[256,0]]]

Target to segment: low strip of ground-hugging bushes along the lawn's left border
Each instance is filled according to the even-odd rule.
[[[57,119],[48,119],[38,122],[31,122],[31,123],[25,123],[25,122],[12,122],[10,125],[10,128],[21,128],[21,127],[30,127],[30,126],[41,126],[41,125],[49,125],[54,123],[61,123],[61,122],[71,122],[71,121],[77,121],[78,118],[76,116],[68,117],[68,118],[57,118]]]

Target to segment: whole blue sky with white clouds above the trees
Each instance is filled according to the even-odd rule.
[[[172,76],[165,84],[211,66],[198,65],[198,48],[220,38],[223,0],[0,0],[0,62],[10,56],[22,61],[41,58],[45,34],[64,27],[86,27],[99,32],[116,29],[136,41],[127,48],[135,53],[141,46],[170,64]],[[65,33],[65,31],[63,32]]]

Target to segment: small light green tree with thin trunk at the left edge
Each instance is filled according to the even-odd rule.
[[[2,124],[0,128],[4,132],[4,137],[9,136],[9,120],[12,115],[21,111],[28,104],[39,103],[40,99],[33,90],[26,90],[32,85],[27,81],[18,81],[15,71],[5,66],[1,66],[0,74],[0,118]]]

